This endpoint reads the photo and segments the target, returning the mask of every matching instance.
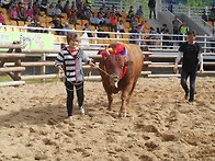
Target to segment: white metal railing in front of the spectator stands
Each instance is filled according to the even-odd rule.
[[[4,30],[2,30],[2,27]],[[124,42],[124,43],[135,43],[144,48],[160,48],[160,49],[178,49],[180,43],[185,41],[186,35],[174,35],[174,34],[149,34],[149,33],[120,33],[120,32],[98,32],[95,31],[77,31],[77,30],[61,30],[61,28],[43,28],[43,27],[29,27],[29,26],[11,26],[1,25],[0,31],[4,32],[9,30],[10,32],[27,32],[37,31],[38,33],[49,33],[54,34],[56,32],[77,32],[82,35],[82,42],[87,42],[88,46],[108,46],[111,43]],[[41,31],[41,32],[39,32]],[[93,37],[86,36],[91,33]],[[109,37],[99,37],[98,34],[108,34]],[[133,36],[133,38],[132,38]],[[66,35],[55,35],[54,44],[60,45],[66,44]],[[60,39],[60,41],[59,41]],[[196,42],[200,43],[204,53],[215,51],[215,35],[196,35]]]

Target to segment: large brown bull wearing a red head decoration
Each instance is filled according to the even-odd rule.
[[[140,76],[144,58],[139,46],[134,44],[111,44],[108,49],[100,50],[100,73],[108,94],[111,111],[113,93],[122,91],[120,116],[126,116],[126,105],[129,104],[132,93]]]

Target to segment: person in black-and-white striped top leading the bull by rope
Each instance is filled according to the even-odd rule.
[[[82,61],[91,66],[94,64],[84,53],[79,48],[80,37],[77,33],[68,33],[67,43],[68,47],[61,49],[58,54],[55,66],[59,72],[65,73],[65,87],[67,91],[67,113],[68,117],[72,118],[73,107],[73,89],[76,88],[78,105],[80,113],[84,115],[83,108],[83,69]]]

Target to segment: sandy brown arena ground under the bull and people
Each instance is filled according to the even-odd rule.
[[[215,78],[197,78],[193,105],[179,78],[140,78],[124,118],[120,94],[109,112],[102,83],[84,88],[72,120],[63,82],[0,88],[0,161],[215,160]]]

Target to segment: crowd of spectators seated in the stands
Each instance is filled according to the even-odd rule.
[[[156,19],[156,1],[148,0],[148,9],[149,15],[148,19]],[[182,41],[182,36],[168,36],[168,34],[173,33],[174,35],[185,35],[189,31],[186,22],[182,22],[179,18],[174,18],[172,21],[172,28],[168,27],[167,24],[162,24],[162,26],[154,28],[148,24],[146,20],[144,20],[144,9],[139,5],[136,10],[133,5],[129,7],[129,10],[126,14],[118,11],[116,5],[108,7],[105,3],[99,10],[94,10],[91,8],[91,2],[86,0],[76,0],[69,1],[67,0],[64,4],[61,0],[58,0],[56,4],[49,3],[47,0],[36,0],[32,4],[23,3],[21,1],[10,1],[7,3],[5,1],[1,1],[1,8],[7,9],[7,13],[10,20],[14,21],[23,21],[27,23],[29,26],[39,26],[45,27],[39,21],[39,18],[45,14],[46,16],[52,18],[48,23],[53,28],[59,28],[56,31],[58,35],[67,35],[68,30],[71,28],[71,25],[79,25],[79,30],[88,31],[87,35],[89,37],[108,37],[110,38],[109,33],[99,33],[93,34],[90,31],[97,30],[98,32],[120,32],[120,33],[131,33],[129,43],[133,44],[146,44],[146,45],[155,45],[156,42],[147,41],[147,39],[159,39],[159,36],[155,34],[163,34],[163,46],[173,45],[171,39]],[[63,14],[66,14],[66,21]],[[211,9],[211,18],[213,18],[215,13],[215,7],[213,5]],[[0,23],[5,24],[5,18],[0,12]],[[84,24],[79,24],[78,20],[83,21]],[[79,21],[80,22],[80,21]],[[71,25],[70,25],[71,24]],[[81,26],[81,28],[80,28]],[[63,32],[60,30],[67,30]],[[172,31],[171,31],[172,30]],[[38,30],[29,30],[30,32],[38,32]],[[42,31],[42,32],[45,32]],[[144,33],[149,33],[151,35],[148,36],[139,36]],[[123,34],[121,36],[123,38]],[[137,41],[140,39],[140,41]],[[146,39],[146,41],[143,41]],[[165,47],[163,47],[165,48]]]

